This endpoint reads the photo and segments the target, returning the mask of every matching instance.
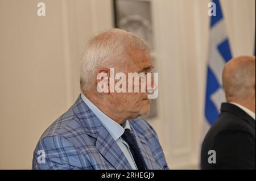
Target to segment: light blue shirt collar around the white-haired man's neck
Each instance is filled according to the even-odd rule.
[[[97,108],[84,94],[81,93],[81,98],[85,104],[90,108],[90,110],[98,117],[104,127],[108,130],[114,140],[118,140],[119,137],[125,132],[125,129],[130,129],[129,121],[123,122],[122,126],[111,119],[109,116],[105,115],[99,108]]]

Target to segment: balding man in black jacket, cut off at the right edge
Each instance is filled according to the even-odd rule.
[[[255,169],[255,57],[230,60],[222,73],[226,102],[201,150],[201,169]]]

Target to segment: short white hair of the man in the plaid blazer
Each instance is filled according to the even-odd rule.
[[[150,46],[146,41],[131,32],[115,28],[93,36],[82,56],[81,91],[85,92],[93,89],[97,69],[121,66],[128,58],[126,54],[128,46],[150,53]]]

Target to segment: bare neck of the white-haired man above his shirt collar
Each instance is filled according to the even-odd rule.
[[[118,124],[122,124],[128,119],[127,116],[123,116],[123,112],[118,112],[115,108],[115,104],[111,104],[106,96],[99,95],[94,92],[83,92],[83,94],[92,102],[98,109],[105,113],[110,119],[114,120]]]

